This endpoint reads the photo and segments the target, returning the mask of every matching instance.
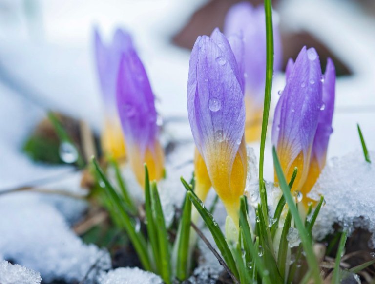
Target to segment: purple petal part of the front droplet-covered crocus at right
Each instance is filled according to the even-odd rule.
[[[278,112],[272,134],[277,149],[287,151],[292,163],[302,152],[307,157],[316,133],[322,101],[319,57],[315,49],[303,47],[278,102]],[[278,120],[278,121],[277,121]],[[305,158],[304,163],[309,163]],[[307,169],[307,168],[306,168]]]

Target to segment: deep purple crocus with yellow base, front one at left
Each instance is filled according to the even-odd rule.
[[[145,68],[133,48],[120,60],[117,79],[117,107],[128,157],[140,185],[145,183],[144,163],[150,180],[164,175],[164,153],[158,140],[155,98]]]

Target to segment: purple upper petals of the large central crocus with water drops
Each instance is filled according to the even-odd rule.
[[[233,162],[245,127],[244,98],[233,68],[234,55],[230,47],[219,47],[223,42],[207,36],[198,38],[189,65],[190,127],[208,167],[207,158],[215,149],[221,149]]]

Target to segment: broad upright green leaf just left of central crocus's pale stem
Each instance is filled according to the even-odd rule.
[[[191,200],[185,196],[185,203],[182,209],[182,217],[179,225],[179,244],[177,250],[176,277],[183,281],[187,278],[187,269],[190,266],[188,261],[189,236],[191,222]]]

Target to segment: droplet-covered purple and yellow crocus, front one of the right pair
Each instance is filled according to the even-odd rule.
[[[313,48],[303,47],[295,63],[290,61],[288,65],[287,83],[273,118],[272,144],[287,180],[294,167],[298,168],[293,190],[303,192],[321,113],[322,73]]]

